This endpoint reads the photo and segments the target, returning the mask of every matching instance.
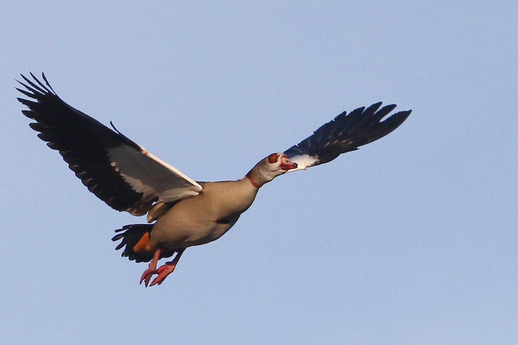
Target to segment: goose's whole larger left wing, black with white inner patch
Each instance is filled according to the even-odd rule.
[[[59,150],[68,167],[99,199],[118,211],[146,214],[155,201],[172,202],[197,195],[202,186],[145,148],[59,98],[45,74],[46,85],[22,78],[27,91],[18,98],[36,122],[32,129],[47,145]]]

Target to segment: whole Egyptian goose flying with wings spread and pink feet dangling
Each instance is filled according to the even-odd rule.
[[[410,115],[401,111],[381,121],[395,104],[381,102],[341,113],[317,129],[312,136],[283,153],[273,153],[258,162],[237,181],[196,182],[148,152],[119,132],[70,107],[50,86],[31,73],[33,80],[17,88],[34,100],[18,98],[29,109],[22,113],[34,119],[32,129],[56,149],[82,183],[117,211],[134,216],[147,214],[148,223],[131,224],[116,230],[113,241],[122,240],[122,256],[150,262],[140,283],[161,284],[174,271],[185,248],[220,238],[254,201],[259,188],[279,175],[305,170],[332,161],[384,137]],[[154,223],[153,223],[154,222]],[[157,261],[176,257],[158,269]]]

